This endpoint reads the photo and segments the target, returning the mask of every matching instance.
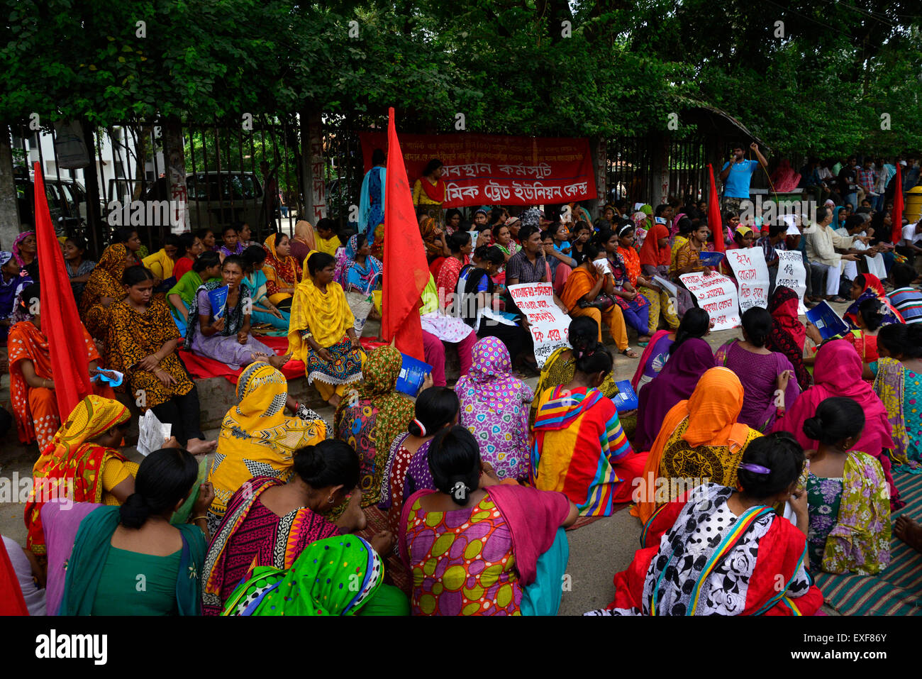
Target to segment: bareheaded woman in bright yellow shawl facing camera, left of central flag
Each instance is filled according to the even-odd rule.
[[[338,406],[346,386],[361,380],[365,354],[355,334],[355,316],[346,294],[333,281],[335,260],[324,252],[307,261],[309,275],[291,304],[289,353],[305,365],[307,381]]]

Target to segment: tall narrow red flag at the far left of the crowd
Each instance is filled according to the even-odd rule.
[[[41,280],[41,332],[48,338],[54,375],[54,396],[64,421],[92,388],[87,370],[87,347],[77,315],[77,303],[64,268],[61,244],[48,211],[41,163],[35,163],[35,240]]]

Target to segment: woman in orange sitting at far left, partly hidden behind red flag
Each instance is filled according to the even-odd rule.
[[[61,426],[57,398],[54,395],[54,375],[48,338],[41,332],[41,314],[31,315],[32,303],[38,300],[41,291],[38,283],[32,283],[19,295],[14,311],[17,323],[9,328],[9,394],[16,417],[19,440],[28,444],[38,441],[39,451],[52,442],[54,433]],[[96,344],[83,328],[83,341],[87,351],[89,373],[95,373],[100,361]],[[107,399],[114,399],[112,387],[93,382],[93,393]]]

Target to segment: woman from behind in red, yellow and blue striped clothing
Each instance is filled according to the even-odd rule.
[[[646,456],[633,453],[618,408],[598,389],[611,373],[609,351],[594,341],[573,356],[573,379],[539,395],[531,481],[565,494],[581,516],[608,517],[631,500]]]

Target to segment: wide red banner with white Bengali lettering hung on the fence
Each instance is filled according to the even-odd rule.
[[[426,163],[444,164],[446,208],[466,205],[545,205],[597,197],[589,140],[500,135],[398,135],[412,186]],[[362,132],[365,172],[387,137]]]

